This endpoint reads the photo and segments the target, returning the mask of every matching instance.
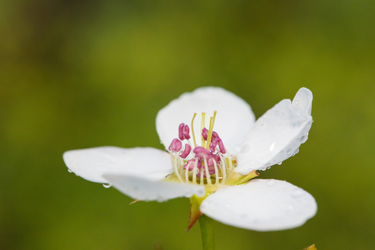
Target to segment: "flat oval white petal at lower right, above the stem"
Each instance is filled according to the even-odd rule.
[[[286,181],[256,179],[217,190],[201,212],[219,222],[256,231],[301,226],[317,213],[311,194]]]

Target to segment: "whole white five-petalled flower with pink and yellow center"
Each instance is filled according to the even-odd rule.
[[[315,215],[315,199],[286,181],[249,179],[299,151],[313,122],[312,100],[310,90],[301,88],[293,101],[280,101],[255,122],[240,97],[199,88],[159,111],[156,130],[166,151],[97,147],[67,151],[63,158],[76,175],[113,185],[133,199],[196,194],[206,197],[199,201],[201,213],[224,224],[256,231],[294,228]]]

